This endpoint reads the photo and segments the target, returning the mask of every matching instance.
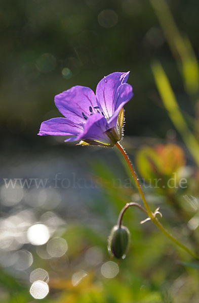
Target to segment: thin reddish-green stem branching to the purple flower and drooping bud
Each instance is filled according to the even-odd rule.
[[[122,145],[117,142],[116,144],[116,147],[120,150],[121,154],[123,155],[130,171],[131,171],[131,174],[133,176],[133,179],[135,180],[135,184],[138,188],[138,191],[139,191],[139,194],[142,198],[142,201],[143,201],[143,204],[144,204],[144,207],[145,207],[145,210],[139,205],[139,204],[134,204],[134,206],[137,206],[138,208],[140,208],[142,211],[144,211],[145,213],[147,213],[147,215],[149,216],[150,220],[153,222],[153,224],[156,225],[156,227],[158,229],[160,229],[162,231],[162,233],[164,235],[166,235],[170,240],[172,240],[176,245],[178,245],[179,247],[181,247],[182,249],[184,249],[186,252],[188,252],[189,255],[191,255],[193,258],[195,258],[196,260],[199,260],[199,258],[194,254],[194,252],[192,252],[188,247],[186,247],[184,244],[182,244],[180,241],[178,241],[177,239],[175,239],[164,227],[163,225],[157,220],[157,218],[155,217],[155,214],[152,213],[152,211],[150,210],[149,206],[148,206],[148,203],[145,199],[145,196],[144,196],[144,193],[142,191],[142,187],[140,185],[140,182],[139,182],[139,179],[137,178],[136,176],[136,173],[134,171],[134,168],[129,160],[129,157],[128,155],[126,154],[126,151],[124,150],[124,148],[122,147]],[[123,217],[124,215],[124,212],[126,211],[126,209],[128,208],[128,205],[124,207],[124,209],[122,210],[120,216]],[[120,218],[119,216],[119,218]],[[118,222],[119,224],[120,221],[118,219]],[[122,222],[122,218],[121,218],[121,222]]]

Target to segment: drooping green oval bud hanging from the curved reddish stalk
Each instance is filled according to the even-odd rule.
[[[108,250],[117,259],[125,259],[129,247],[130,233],[127,227],[115,225],[108,237]]]

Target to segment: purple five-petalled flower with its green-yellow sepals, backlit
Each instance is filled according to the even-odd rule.
[[[97,85],[96,94],[85,86],[73,86],[55,96],[55,105],[65,118],[44,121],[39,136],[67,136],[65,142],[113,146],[122,137],[124,105],[132,98],[128,73],[115,72]]]

